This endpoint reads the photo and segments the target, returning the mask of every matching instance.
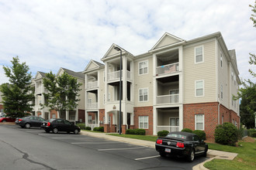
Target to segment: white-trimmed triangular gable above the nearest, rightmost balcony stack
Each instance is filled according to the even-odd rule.
[[[184,42],[185,39],[178,38],[177,36],[173,36],[168,32],[165,32],[161,39],[157,41],[157,43],[152,47],[152,49],[159,49],[164,46],[172,45],[178,42]]]

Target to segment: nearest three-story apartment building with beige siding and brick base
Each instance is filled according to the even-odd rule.
[[[185,40],[169,33],[147,53],[122,50],[121,115],[119,122],[119,47],[112,44],[102,63],[85,67],[85,124],[106,132],[129,128],[206,131],[216,125],[240,127],[239,103],[233,100],[240,84],[235,50],[227,49],[220,32]]]

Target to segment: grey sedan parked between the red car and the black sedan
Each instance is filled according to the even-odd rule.
[[[43,119],[42,117],[29,116],[17,118],[15,123],[21,128],[40,128],[43,121],[45,121],[45,119]]]

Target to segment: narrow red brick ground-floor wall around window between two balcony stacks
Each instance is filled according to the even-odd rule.
[[[153,107],[134,107],[134,128],[139,128],[139,116],[148,116],[146,134],[153,134]]]

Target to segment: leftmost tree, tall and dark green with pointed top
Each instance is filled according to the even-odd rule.
[[[32,76],[28,73],[29,66],[26,63],[19,63],[19,56],[12,58],[12,66],[3,66],[5,75],[9,77],[9,83],[1,85],[2,103],[5,112],[10,117],[24,117],[30,112],[34,99],[33,87],[31,87]]]

